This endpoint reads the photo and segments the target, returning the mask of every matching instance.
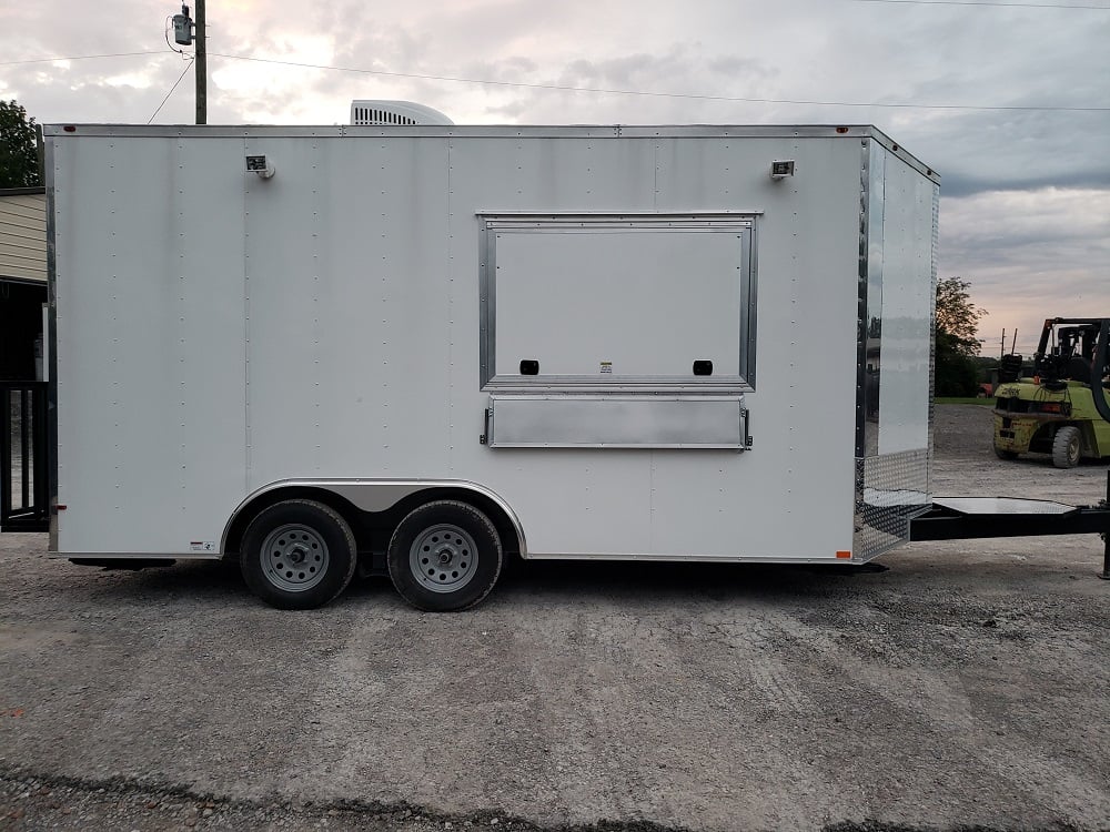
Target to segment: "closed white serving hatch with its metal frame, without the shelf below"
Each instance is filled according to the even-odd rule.
[[[754,386],[754,214],[478,219],[483,389]]]

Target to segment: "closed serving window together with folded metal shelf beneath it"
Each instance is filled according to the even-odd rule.
[[[754,213],[478,220],[483,442],[750,447]]]

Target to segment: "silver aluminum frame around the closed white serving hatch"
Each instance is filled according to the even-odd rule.
[[[513,213],[480,212],[478,294],[480,387],[491,393],[746,393],[755,389],[757,219],[761,212],[658,213]],[[727,376],[614,374],[594,375],[497,374],[497,235],[529,233],[591,233],[592,231],[666,231],[728,233],[740,237],[739,338],[736,345],[739,374]]]

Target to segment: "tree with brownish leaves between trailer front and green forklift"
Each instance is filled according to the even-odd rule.
[[[978,383],[979,319],[987,314],[971,302],[971,282],[945,277],[937,282],[937,395],[973,396]]]

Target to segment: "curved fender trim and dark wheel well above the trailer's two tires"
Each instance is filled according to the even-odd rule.
[[[359,511],[379,514],[389,511],[397,504],[415,499],[425,501],[442,499],[453,495],[455,498],[474,498],[476,507],[487,510],[491,520],[498,531],[505,535],[511,531],[515,540],[503,540],[506,548],[517,548],[522,558],[526,558],[527,544],[521,518],[496,491],[477,483],[458,479],[280,479],[256,488],[232,511],[220,538],[220,554],[226,556],[242,534],[246,522],[260,510],[272,503],[291,496],[323,499],[325,503],[344,504]],[[329,499],[331,498],[331,499]],[[342,511],[341,511],[342,513]],[[498,516],[500,515],[500,516]],[[515,544],[515,547],[513,546]]]

